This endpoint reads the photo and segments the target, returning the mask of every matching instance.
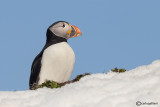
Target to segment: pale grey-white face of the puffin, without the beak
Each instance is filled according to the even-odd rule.
[[[71,26],[69,26],[66,22],[58,22],[49,28],[56,36],[63,37],[68,39],[70,34],[68,34],[68,30],[71,30]]]

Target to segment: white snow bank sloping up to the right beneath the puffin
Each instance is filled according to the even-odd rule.
[[[138,107],[136,102],[160,107],[160,60],[125,73],[92,74],[58,89],[0,91],[0,107]]]

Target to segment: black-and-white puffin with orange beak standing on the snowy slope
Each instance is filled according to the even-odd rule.
[[[57,21],[48,27],[45,46],[31,66],[30,89],[47,80],[64,83],[70,79],[75,54],[67,40],[81,34],[78,27],[66,21]]]

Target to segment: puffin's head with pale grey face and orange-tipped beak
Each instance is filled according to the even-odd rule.
[[[65,39],[77,37],[81,35],[81,31],[74,25],[70,25],[65,21],[58,21],[53,23],[48,30],[50,30],[54,35],[62,37]]]

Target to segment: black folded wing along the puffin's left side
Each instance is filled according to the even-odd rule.
[[[32,63],[32,68],[31,68],[31,75],[30,75],[30,81],[29,81],[29,87],[30,89],[33,87],[33,85],[36,85],[39,80],[39,73],[41,69],[41,59],[42,59],[42,53],[41,51],[36,58],[34,59]]]

